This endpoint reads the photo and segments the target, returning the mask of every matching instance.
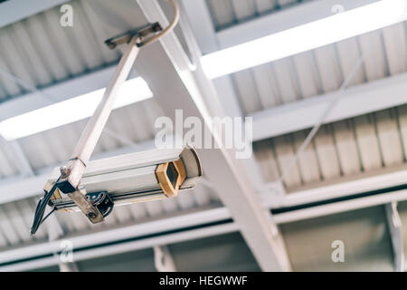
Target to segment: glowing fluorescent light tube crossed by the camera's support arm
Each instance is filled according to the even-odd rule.
[[[82,94],[67,101],[29,111],[0,122],[0,134],[5,140],[23,138],[74,121],[90,117],[99,105],[105,89]],[[153,92],[141,77],[123,83],[113,109],[153,97]]]

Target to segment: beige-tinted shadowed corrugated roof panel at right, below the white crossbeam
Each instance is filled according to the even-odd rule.
[[[256,142],[254,154],[265,181],[286,172],[288,188],[392,168],[406,162],[406,111],[402,105],[323,125],[293,168],[290,164],[309,130]]]

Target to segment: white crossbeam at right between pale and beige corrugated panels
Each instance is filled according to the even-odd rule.
[[[337,93],[342,93],[324,123],[340,121],[407,103],[407,73],[352,86],[345,92],[328,92],[253,113],[253,140],[312,128],[324,115]]]

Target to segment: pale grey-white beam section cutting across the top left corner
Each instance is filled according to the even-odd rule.
[[[71,0],[8,0],[0,4],[0,28]]]

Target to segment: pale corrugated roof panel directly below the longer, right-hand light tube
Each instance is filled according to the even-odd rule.
[[[395,24],[232,74],[242,111],[250,114],[339,89],[364,55],[349,86],[406,72],[407,24]]]

